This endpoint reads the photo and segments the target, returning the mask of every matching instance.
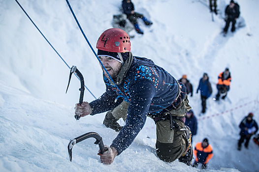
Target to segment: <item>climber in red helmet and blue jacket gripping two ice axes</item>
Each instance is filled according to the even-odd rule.
[[[191,131],[184,121],[191,106],[186,87],[151,59],[133,56],[129,35],[122,29],[105,30],[97,41],[97,49],[106,91],[91,103],[76,104],[75,115],[108,111],[103,123],[119,133],[110,146],[105,145],[107,151],[100,154],[101,162],[111,164],[127,149],[150,116],[157,126],[158,157],[165,162],[179,159],[190,165]],[[117,128],[114,123],[120,118],[126,124]]]

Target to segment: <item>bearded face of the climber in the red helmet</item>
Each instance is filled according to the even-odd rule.
[[[115,59],[113,59],[112,57],[108,57],[108,56],[99,56],[99,59],[102,62],[102,64],[105,67],[105,69],[110,74],[110,76],[112,78],[117,78],[117,75],[118,75],[118,73],[121,70],[122,63],[117,61],[117,60],[115,60]],[[109,78],[109,76],[107,75],[107,73],[105,72],[105,70],[103,69],[102,66],[101,66],[101,69],[102,69],[102,71],[104,73],[104,76],[106,78]]]

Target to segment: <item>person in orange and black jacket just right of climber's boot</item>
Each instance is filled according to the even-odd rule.
[[[194,155],[196,158],[193,167],[197,167],[200,163],[202,164],[201,169],[206,169],[209,160],[213,156],[212,147],[207,138],[204,138],[202,142],[195,145]]]

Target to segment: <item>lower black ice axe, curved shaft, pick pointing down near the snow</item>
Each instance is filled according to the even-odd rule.
[[[85,139],[88,139],[88,138],[95,138],[96,139],[95,144],[99,145],[99,148],[100,148],[99,153],[100,154],[103,154],[107,150],[107,148],[104,147],[104,145],[103,145],[102,138],[100,137],[100,135],[98,135],[95,132],[89,132],[89,133],[83,134],[82,136],[78,136],[75,139],[71,139],[70,142],[68,143],[67,149],[68,149],[69,159],[70,159],[71,162],[72,162],[72,148],[73,148],[73,146],[76,143],[79,143],[79,142],[81,142]]]

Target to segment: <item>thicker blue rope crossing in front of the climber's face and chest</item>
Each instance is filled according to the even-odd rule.
[[[81,28],[81,26],[80,26],[80,24],[79,24],[79,22],[78,22],[78,20],[77,20],[77,18],[76,18],[76,16],[75,16],[75,13],[74,13],[74,11],[73,11],[73,9],[72,9],[72,7],[71,7],[69,1],[68,1],[68,0],[65,0],[65,1],[66,1],[67,5],[68,5],[68,7],[69,7],[69,9],[70,9],[70,11],[71,11],[73,17],[74,17],[74,19],[75,19],[75,21],[76,21],[76,23],[77,23],[79,29],[81,30],[82,34],[84,35],[85,40],[87,41],[87,43],[88,43],[88,45],[90,46],[91,50],[93,51],[93,53],[94,53],[95,56],[97,57],[99,63],[100,63],[101,66],[102,66],[102,68],[105,70],[105,72],[106,72],[107,75],[109,76],[110,80],[111,80],[112,83],[115,85],[115,87],[117,88],[117,90],[122,94],[122,96],[124,97],[124,99],[125,99],[125,100],[128,100],[128,98],[125,96],[125,94],[123,94],[123,92],[120,90],[120,88],[115,84],[115,82],[113,81],[112,77],[110,76],[110,74],[108,73],[108,71],[105,69],[104,65],[102,64],[101,60],[98,58],[98,56],[97,56],[95,50],[93,49],[91,43],[88,41],[88,39],[87,39],[87,37],[86,37],[86,35],[85,35],[83,29]]]

